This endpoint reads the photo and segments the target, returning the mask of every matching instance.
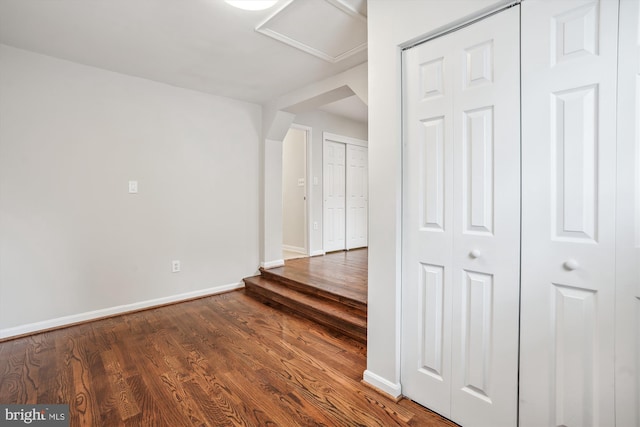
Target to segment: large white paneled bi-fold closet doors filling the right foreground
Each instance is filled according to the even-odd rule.
[[[521,89],[522,107],[510,105],[522,117],[521,162],[517,151],[511,163],[499,154],[499,131],[517,118],[493,105],[487,138],[464,127],[485,107],[460,106],[473,78],[512,100],[498,82],[515,9],[406,52],[403,392],[465,426],[515,425],[517,410],[520,426],[640,426],[640,2],[520,8],[522,76],[511,91]],[[465,65],[474,58],[492,67]],[[469,141],[482,136],[492,151],[477,157],[487,144]],[[505,201],[520,203],[520,193],[505,181],[522,183],[521,228]],[[494,228],[469,227],[483,221]],[[515,244],[499,240],[504,227]],[[489,241],[501,243],[478,247]],[[509,245],[515,259],[498,249]],[[505,284],[507,264],[520,277]],[[461,395],[485,405],[458,406]]]

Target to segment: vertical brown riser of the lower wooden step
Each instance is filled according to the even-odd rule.
[[[250,282],[245,282],[245,291],[247,295],[262,303],[272,305],[274,308],[280,308],[312,320],[318,324],[347,335],[359,342],[365,344],[367,342],[366,327],[363,328],[360,325],[347,323],[341,319],[332,317],[329,313],[316,310],[312,306],[305,305],[298,301],[273,293]]]

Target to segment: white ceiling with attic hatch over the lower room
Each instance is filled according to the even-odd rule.
[[[366,62],[363,37],[366,0],[0,0],[0,43],[260,104]]]

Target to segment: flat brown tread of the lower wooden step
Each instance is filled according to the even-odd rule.
[[[289,300],[294,300],[303,304],[316,312],[327,313],[331,317],[342,322],[347,322],[355,327],[366,330],[366,314],[361,310],[340,304],[339,302],[322,298],[321,296],[310,295],[296,289],[287,287],[286,284],[264,278],[262,276],[248,277],[245,283],[263,288],[271,293],[275,293]]]

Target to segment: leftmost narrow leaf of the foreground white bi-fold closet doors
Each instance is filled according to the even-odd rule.
[[[452,44],[451,36],[441,37],[403,58],[402,393],[445,417],[451,417],[454,228],[453,82],[445,56],[448,69]]]

